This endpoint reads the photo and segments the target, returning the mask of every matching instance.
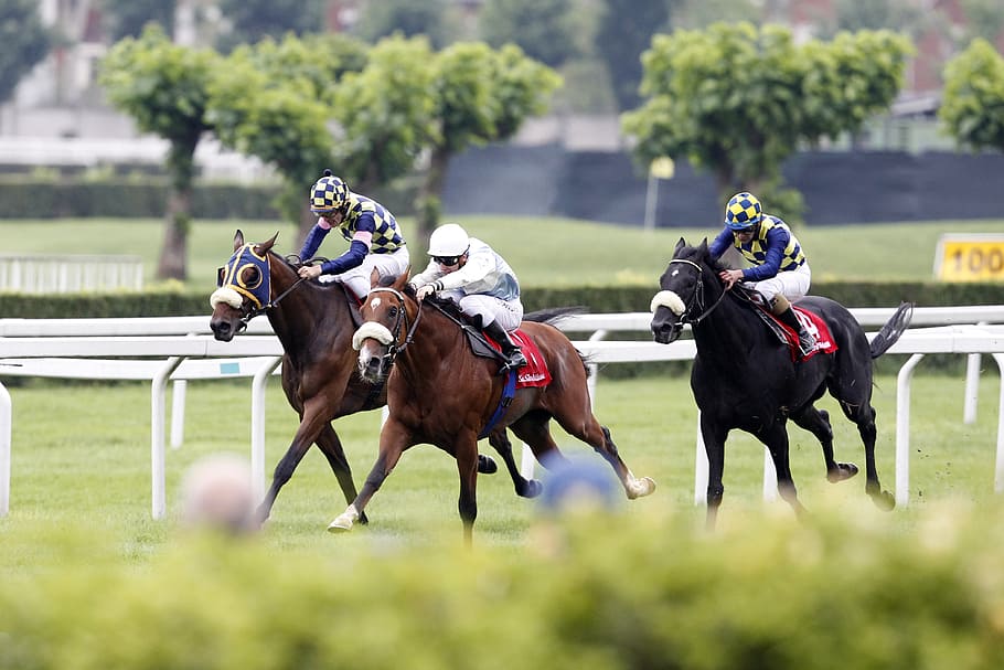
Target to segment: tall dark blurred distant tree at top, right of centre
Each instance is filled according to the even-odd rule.
[[[620,110],[639,105],[641,52],[652,35],[666,28],[670,4],[679,0],[607,0],[596,33],[595,47],[607,65],[613,97]]]

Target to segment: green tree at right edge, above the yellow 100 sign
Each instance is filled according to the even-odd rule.
[[[983,39],[944,68],[938,116],[961,146],[1004,151],[1004,57]]]

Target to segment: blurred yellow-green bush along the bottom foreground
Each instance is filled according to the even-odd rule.
[[[0,582],[0,668],[1004,667],[1001,510],[911,530],[871,508],[715,535],[691,519],[542,521],[515,555],[477,531],[470,552],[363,538],[279,555],[180,535],[128,567],[54,547],[58,574]],[[22,541],[42,540],[4,538]]]

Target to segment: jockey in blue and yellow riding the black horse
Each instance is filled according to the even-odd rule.
[[[743,281],[763,296],[770,311],[799,333],[799,347],[809,353],[815,344],[791,309],[790,300],[809,293],[812,272],[798,237],[788,224],[763,213],[752,193],[736,193],[725,208],[725,228],[708,247],[712,258],[718,259],[735,246],[751,267],[726,269],[719,273],[725,288]]]

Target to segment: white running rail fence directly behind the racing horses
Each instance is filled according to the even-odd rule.
[[[893,309],[852,310],[866,329],[885,323]],[[605,340],[610,332],[648,332],[651,315],[576,315],[559,326],[569,333],[591,333],[576,345],[592,365],[623,362],[692,360],[693,340],[672,344]],[[964,421],[975,418],[980,355],[993,354],[1004,377],[1004,306],[917,308],[914,327],[890,353],[914,354],[899,372],[896,417],[896,499],[909,500],[909,395],[912,373],[927,353],[964,353],[970,357]],[[932,328],[916,328],[931,326]],[[281,345],[266,319],[252,321],[248,332],[232,342],[209,336],[207,317],[136,319],[0,319],[0,380],[8,376],[57,379],[149,380],[151,382],[152,515],[167,511],[165,396],[174,382],[171,444],[182,442],[184,392],[188,380],[253,377],[252,472],[257,492],[265,490],[265,389],[277,372]],[[147,360],[136,360],[143,357]],[[157,359],[157,360],[150,360]],[[970,379],[972,377],[972,379]],[[595,394],[596,375],[590,394]],[[0,383],[0,515],[10,509],[11,398]],[[1002,384],[995,467],[995,490],[1004,490],[1004,384]],[[524,471],[532,472],[533,457],[524,449]],[[707,460],[699,432],[695,446],[695,502],[704,500]],[[776,478],[765,449],[766,498],[773,497]]]

